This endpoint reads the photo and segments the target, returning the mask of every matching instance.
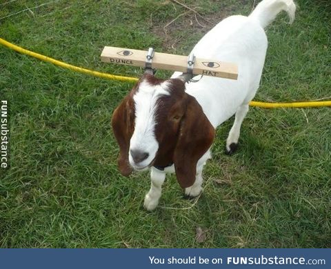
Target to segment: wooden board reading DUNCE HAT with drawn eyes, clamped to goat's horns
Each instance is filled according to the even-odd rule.
[[[147,50],[132,50],[129,48],[105,47],[101,53],[101,61],[129,66],[145,67]],[[152,68],[186,72],[188,57],[154,52]],[[238,67],[234,63],[214,61],[212,59],[195,59],[193,74],[203,74],[211,77],[237,79]]]

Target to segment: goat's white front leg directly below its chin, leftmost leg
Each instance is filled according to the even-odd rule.
[[[145,196],[143,207],[148,210],[154,210],[159,204],[159,199],[162,192],[162,184],[165,180],[165,172],[161,172],[155,168],[150,170],[150,191]]]

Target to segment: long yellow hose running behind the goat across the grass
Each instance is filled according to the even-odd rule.
[[[84,74],[90,74],[94,77],[102,77],[105,79],[112,79],[117,81],[126,81],[126,82],[137,82],[138,79],[135,77],[123,77],[123,76],[117,76],[114,74],[107,74],[102,72],[97,72],[94,70],[89,70],[86,68],[81,68],[78,66],[72,66],[68,63],[63,63],[63,61],[58,61],[56,59],[52,59],[50,57],[44,56],[42,54],[32,52],[30,50],[26,50],[24,48],[21,48],[19,46],[16,46],[4,39],[0,38],[0,43],[3,46],[6,46],[8,48],[11,48],[12,50],[15,50],[17,52],[20,52],[22,54],[29,55],[31,57],[37,58],[41,61],[46,61],[48,63],[53,63],[56,66],[61,66],[62,68],[67,68],[69,70],[73,70],[76,72],[81,72]],[[259,108],[317,108],[321,106],[331,106],[331,101],[305,101],[305,102],[294,102],[294,103],[265,103],[265,102],[258,102],[258,101],[251,101],[250,106],[257,106]]]

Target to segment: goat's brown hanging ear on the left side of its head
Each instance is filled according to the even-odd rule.
[[[119,157],[117,163],[119,171],[125,177],[132,172],[129,163],[130,139],[134,130],[133,107],[130,106],[129,95],[127,95],[112,114],[112,130],[119,144]]]

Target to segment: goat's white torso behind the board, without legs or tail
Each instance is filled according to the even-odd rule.
[[[197,57],[236,63],[239,68],[237,80],[204,76],[186,85],[186,92],[197,99],[214,128],[254,97],[267,46],[265,32],[257,21],[232,16],[205,34],[192,50]]]

